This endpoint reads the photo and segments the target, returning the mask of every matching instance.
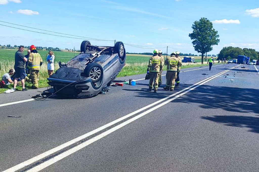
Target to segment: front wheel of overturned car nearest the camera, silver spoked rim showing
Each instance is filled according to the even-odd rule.
[[[103,68],[97,63],[90,63],[84,69],[84,75],[90,77],[93,83],[103,78]]]

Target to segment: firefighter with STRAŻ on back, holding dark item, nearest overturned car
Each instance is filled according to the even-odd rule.
[[[154,92],[157,92],[158,88],[158,79],[159,79],[159,72],[162,68],[161,58],[158,56],[158,50],[154,50],[154,56],[150,57],[147,73],[150,72],[150,80],[149,80],[149,91],[152,91],[153,82],[154,82]]]

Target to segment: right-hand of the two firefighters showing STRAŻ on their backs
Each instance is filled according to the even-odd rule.
[[[174,91],[175,79],[180,66],[180,60],[175,55],[176,52],[172,52],[171,57],[164,61],[164,65],[167,65],[166,87],[163,87],[165,90]]]

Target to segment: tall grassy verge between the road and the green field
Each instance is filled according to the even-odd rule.
[[[13,68],[14,62],[9,61],[9,62],[0,62],[0,69],[2,71],[9,71],[10,68]],[[182,69],[184,68],[189,68],[189,67],[199,67],[199,66],[207,66],[207,64],[201,64],[201,63],[183,63]],[[55,69],[58,69],[59,65],[55,63]],[[166,70],[166,66],[164,66],[164,69]],[[138,74],[143,74],[147,72],[147,62],[129,62],[127,63],[121,72],[118,74],[117,77],[122,77],[122,76],[131,76],[131,75],[138,75]],[[3,72],[1,73],[1,76],[3,75]],[[39,88],[43,87],[48,87],[48,72],[47,72],[47,63],[43,63],[41,66],[40,70],[40,80],[39,80]],[[2,78],[1,78],[2,79]],[[25,82],[25,88],[31,89],[32,83]],[[6,88],[0,88],[0,93],[3,93],[5,90],[13,88],[13,84],[8,85]],[[17,90],[22,90],[21,86],[17,86]]]

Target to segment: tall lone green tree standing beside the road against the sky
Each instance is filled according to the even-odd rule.
[[[207,18],[201,18],[192,25],[193,32],[189,34],[195,51],[202,53],[202,64],[204,53],[210,52],[212,45],[218,45],[218,31],[213,28],[213,24]]]

